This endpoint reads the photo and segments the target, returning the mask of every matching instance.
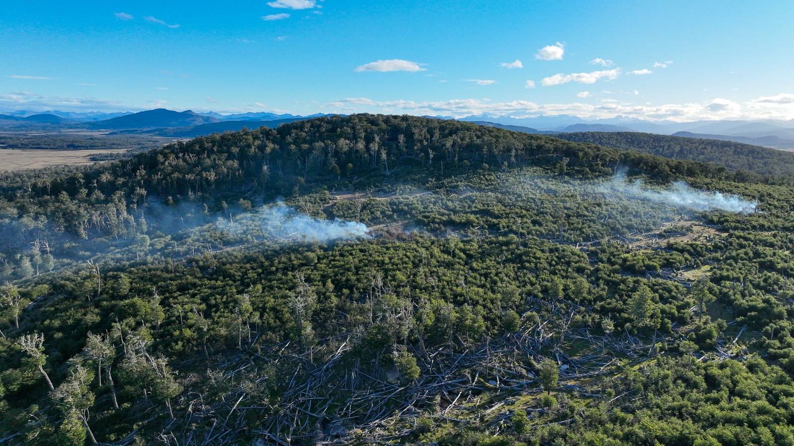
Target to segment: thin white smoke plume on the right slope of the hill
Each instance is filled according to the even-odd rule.
[[[604,193],[624,194],[628,198],[661,202],[669,206],[689,210],[724,210],[735,213],[754,213],[757,202],[750,202],[738,195],[707,192],[693,189],[683,181],[673,183],[664,190],[646,189],[639,180],[628,181],[625,175],[615,175],[612,181],[601,187]]]

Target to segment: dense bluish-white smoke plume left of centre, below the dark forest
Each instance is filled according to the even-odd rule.
[[[266,240],[330,242],[369,237],[364,223],[345,220],[320,220],[276,203],[237,216],[234,221],[218,219],[214,229],[225,236],[253,236]]]

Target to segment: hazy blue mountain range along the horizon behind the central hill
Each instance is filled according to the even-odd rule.
[[[255,129],[262,125],[299,121],[325,116],[322,113],[299,116],[289,113],[247,112],[221,114],[210,112],[177,112],[166,109],[131,112],[63,112],[58,110],[35,113],[16,110],[0,114],[0,128],[31,129],[59,127],[146,133],[157,136],[193,137],[215,132]],[[452,117],[435,116],[438,119]],[[460,121],[475,122],[523,133],[573,132],[642,132],[676,135],[711,140],[730,140],[773,148],[794,148],[794,119],[784,120],[725,120],[725,121],[644,121],[618,116],[609,119],[585,120],[570,115],[537,117],[495,117],[477,115],[462,117]],[[143,130],[145,129],[145,130]],[[134,130],[134,131],[133,131]]]

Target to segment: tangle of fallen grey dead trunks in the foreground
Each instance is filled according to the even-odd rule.
[[[196,445],[241,438],[259,438],[264,444],[345,444],[360,438],[390,442],[413,433],[406,426],[425,414],[456,424],[491,415],[496,416],[493,422],[502,420],[499,407],[511,395],[542,392],[538,373],[543,360],[559,371],[558,391],[602,398],[598,386],[582,380],[620,371],[619,357],[641,359],[649,352],[648,344],[627,333],[561,332],[570,313],[563,315],[483,344],[458,340],[457,348],[411,350],[420,358],[421,375],[415,380],[395,375],[383,363],[364,363],[355,354],[354,333],[325,340],[310,351],[289,341],[268,348],[255,345],[207,371],[210,383],[200,383],[198,374],[188,377],[195,385],[159,438],[164,444]],[[565,344],[582,340],[590,347],[576,356],[565,352]],[[207,388],[212,391],[199,390]]]

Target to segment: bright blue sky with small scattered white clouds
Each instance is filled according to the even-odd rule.
[[[0,110],[791,119],[792,23],[788,0],[6,2]]]

